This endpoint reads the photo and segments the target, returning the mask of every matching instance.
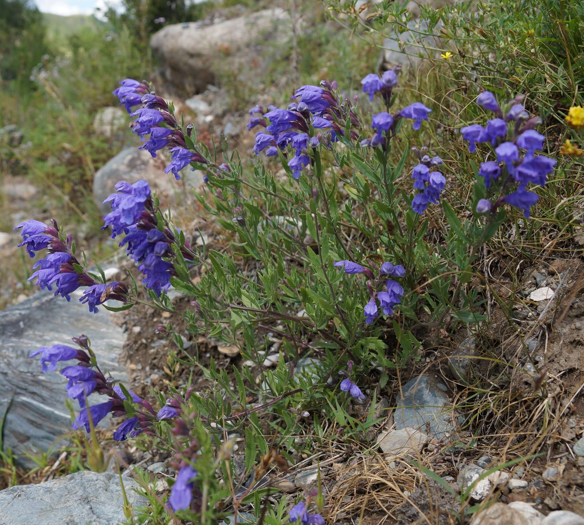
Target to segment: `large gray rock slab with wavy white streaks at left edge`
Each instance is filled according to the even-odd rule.
[[[71,338],[85,334],[102,371],[127,381],[126,369],[118,363],[126,335],[112,323],[110,312],[100,307],[99,313],[91,313],[79,303],[80,295],[71,294],[68,303],[53,292],[39,292],[0,311],[0,415],[10,405],[4,446],[11,447],[26,468],[35,464],[23,452],[46,452],[71,431],[65,406],[67,379],[58,373],[64,363],[55,372],[43,373],[39,358],[29,358],[31,352],[54,344],[76,347]]]

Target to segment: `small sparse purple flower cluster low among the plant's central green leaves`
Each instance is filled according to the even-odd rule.
[[[377,302],[379,302],[379,306],[383,310],[383,313],[391,316],[394,313],[393,307],[401,302],[400,297],[404,295],[404,289],[398,282],[393,279],[387,279],[388,276],[403,277],[405,275],[405,268],[401,264],[394,266],[391,262],[386,261],[379,269],[377,269],[373,263],[370,264],[378,273],[377,279],[370,268],[365,268],[356,262],[335,262],[335,267],[343,268],[346,274],[364,274],[370,279],[374,279],[374,282],[371,280],[367,281],[367,288],[369,288],[369,295],[371,298],[363,307],[366,324],[373,323],[378,316]],[[384,281],[386,290],[378,290],[383,287]]]

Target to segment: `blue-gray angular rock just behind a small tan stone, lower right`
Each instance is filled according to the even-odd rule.
[[[409,426],[426,432],[430,425],[430,439],[443,439],[454,431],[452,410],[446,396],[430,386],[427,376],[419,376],[404,385],[403,394],[394,410],[395,428]]]

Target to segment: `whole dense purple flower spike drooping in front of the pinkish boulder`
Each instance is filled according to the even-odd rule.
[[[120,181],[115,186],[116,193],[103,202],[110,202],[112,211],[104,216],[105,225],[112,228],[112,239],[121,233],[126,236],[120,246],[126,246],[126,253],[138,264],[144,274],[142,283],[160,295],[168,289],[171,277],[175,275],[172,264],[165,258],[172,257],[171,244],[176,242],[169,228],[158,229],[150,186],[144,180],[134,184]],[[188,247],[186,247],[188,248]],[[188,254],[185,252],[188,257]]]

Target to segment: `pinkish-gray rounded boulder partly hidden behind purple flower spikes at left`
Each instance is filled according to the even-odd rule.
[[[109,213],[112,208],[103,201],[112,194],[114,186],[125,180],[132,184],[137,180],[145,180],[152,191],[156,190],[164,204],[172,202],[176,196],[183,194],[185,189],[197,188],[203,183],[203,174],[186,167],[180,172],[182,180],[176,181],[172,174],[164,173],[166,164],[170,162],[168,153],[159,152],[153,159],[150,153],[143,149],[126,148],[108,160],[93,177],[93,200],[102,213]]]

